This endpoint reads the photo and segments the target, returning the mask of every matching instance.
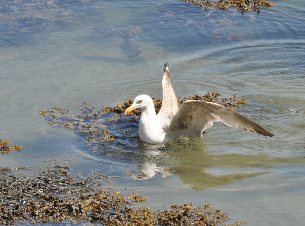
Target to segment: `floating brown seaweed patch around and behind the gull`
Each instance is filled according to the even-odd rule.
[[[178,105],[181,106],[185,100],[205,100],[217,104],[221,104],[225,107],[234,109],[242,104],[246,104],[247,101],[242,98],[233,95],[232,97],[222,98],[221,94],[217,92],[206,93],[203,96],[195,94],[189,97],[178,97]],[[152,97],[154,101],[156,114],[161,109],[161,98]],[[81,107],[81,114],[75,114],[69,109],[53,108],[52,111],[44,110],[39,114],[47,118],[48,124],[53,126],[63,126],[67,129],[74,129],[75,132],[81,133],[85,136],[87,141],[113,141],[113,131],[109,131],[109,127],[106,126],[108,122],[116,122],[120,119],[120,116],[124,114],[124,111],[131,106],[133,101],[127,98],[124,104],[117,104],[115,107],[103,106],[101,109],[96,109],[88,103],[79,104]],[[132,112],[134,117],[137,118],[140,115],[140,110],[136,109]],[[109,124],[108,124],[109,125]]]

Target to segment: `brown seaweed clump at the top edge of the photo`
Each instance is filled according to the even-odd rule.
[[[204,7],[204,10],[217,7],[218,10],[227,10],[230,8],[236,8],[241,10],[242,13],[246,11],[257,11],[260,12],[260,6],[270,7],[275,5],[274,1],[270,0],[220,0],[220,1],[210,1],[210,0],[181,0],[188,2],[191,5],[198,5]]]

